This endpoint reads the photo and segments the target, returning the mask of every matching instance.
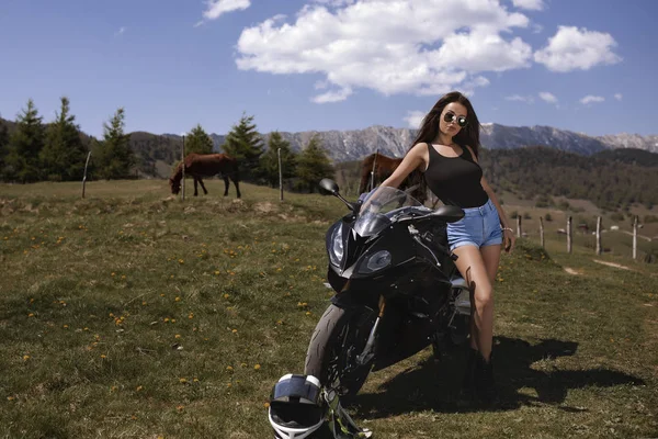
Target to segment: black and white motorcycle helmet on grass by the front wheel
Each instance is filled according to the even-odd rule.
[[[304,439],[325,421],[320,381],[313,375],[283,375],[270,397],[270,424],[276,439]]]

